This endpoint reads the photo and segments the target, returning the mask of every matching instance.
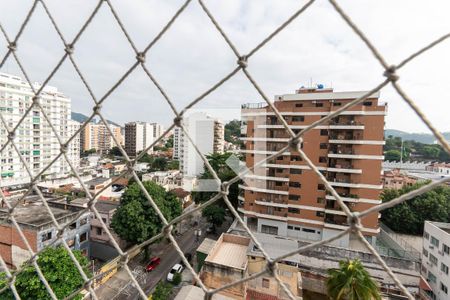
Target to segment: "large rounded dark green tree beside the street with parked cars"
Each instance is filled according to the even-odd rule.
[[[181,214],[181,203],[174,193],[166,192],[153,181],[146,181],[143,185],[167,220]],[[162,222],[139,185],[133,183],[122,195],[111,227],[122,239],[135,244],[158,234],[162,229]]]

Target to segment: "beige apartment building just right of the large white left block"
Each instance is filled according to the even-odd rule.
[[[108,127],[119,144],[123,145],[121,128],[112,124],[108,124]],[[103,154],[108,153],[114,146],[116,143],[103,123],[88,123],[81,131],[81,149],[83,151],[95,149]]]

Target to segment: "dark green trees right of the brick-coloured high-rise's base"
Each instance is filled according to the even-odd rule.
[[[400,190],[385,189],[383,202],[391,201],[413,191],[428,182],[403,187]],[[407,234],[422,234],[426,220],[450,222],[450,187],[441,185],[433,190],[404,201],[381,212],[381,220],[392,230]]]

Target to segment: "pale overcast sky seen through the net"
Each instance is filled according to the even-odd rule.
[[[184,1],[112,1],[136,47],[158,34]],[[205,0],[211,13],[241,54],[282,24],[306,1]],[[450,2],[436,0],[339,1],[389,64],[450,32]],[[31,7],[30,0],[0,0],[0,22],[13,38]],[[47,0],[45,3],[67,41],[94,9],[93,0]],[[0,57],[7,51],[0,36]],[[399,70],[398,83],[441,131],[450,131],[450,39]],[[64,47],[39,4],[18,42],[17,54],[33,82],[42,82],[64,54]],[[106,5],[75,45],[74,59],[101,98],[135,62],[135,54]],[[236,67],[236,57],[197,1],[152,47],[146,65],[172,99],[183,108]],[[310,82],[335,91],[370,90],[384,80],[383,69],[367,47],[328,3],[317,0],[249,60],[248,71],[264,93],[293,93]],[[0,72],[22,76],[10,57]],[[69,60],[49,82],[72,99],[72,110],[89,114],[93,100]],[[242,72],[208,95],[195,108],[239,115],[240,105],[263,99]],[[391,86],[381,90],[388,103],[386,128],[429,132]],[[167,102],[138,67],[106,100],[105,117],[117,123],[141,120],[169,125]],[[218,113],[220,116],[220,113]],[[229,114],[227,114],[229,116]],[[229,117],[227,117],[229,118]]]

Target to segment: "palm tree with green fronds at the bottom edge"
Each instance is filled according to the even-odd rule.
[[[338,269],[329,269],[327,291],[333,300],[381,300],[378,285],[359,259],[341,260]]]

